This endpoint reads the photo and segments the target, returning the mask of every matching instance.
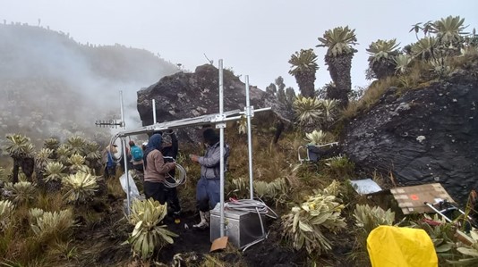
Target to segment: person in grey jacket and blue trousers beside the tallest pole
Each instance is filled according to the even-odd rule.
[[[204,143],[208,148],[204,156],[190,154],[193,162],[201,164],[201,178],[196,187],[196,201],[200,210],[201,222],[194,224],[194,228],[209,227],[209,210],[214,209],[220,201],[220,142],[214,129],[205,129],[202,133]],[[227,165],[229,146],[224,147],[224,164]],[[225,169],[226,171],[226,169]]]

